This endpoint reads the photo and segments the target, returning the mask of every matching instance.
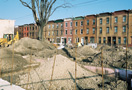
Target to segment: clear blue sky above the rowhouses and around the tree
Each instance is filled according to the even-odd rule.
[[[28,2],[30,0],[27,0]],[[71,8],[60,8],[50,17],[50,20],[68,17],[113,12],[132,9],[132,0],[64,0],[71,3]],[[58,0],[55,6],[62,3]],[[19,0],[0,0],[0,19],[15,20],[15,25],[34,23],[30,9],[24,7]]]

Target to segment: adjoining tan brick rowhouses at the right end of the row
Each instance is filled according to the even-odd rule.
[[[128,44],[131,44],[131,20],[128,10],[115,11],[113,13],[100,13],[97,16],[97,43],[126,45],[127,31]]]

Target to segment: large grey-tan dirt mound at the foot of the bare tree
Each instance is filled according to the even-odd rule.
[[[10,48],[12,48],[11,46]],[[21,55],[36,55],[39,57],[53,56],[55,47],[47,40],[39,41],[28,37],[20,39],[14,44],[14,50]]]

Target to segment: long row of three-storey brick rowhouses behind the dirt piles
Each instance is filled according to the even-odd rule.
[[[20,38],[37,39],[36,24],[18,26]],[[44,37],[51,43],[82,44],[132,44],[132,10],[100,13],[97,15],[49,21],[44,28]]]

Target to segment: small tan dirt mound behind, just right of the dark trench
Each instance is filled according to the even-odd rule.
[[[92,62],[94,57],[100,53],[100,51],[93,49],[87,45],[78,47],[77,49],[65,47],[63,50],[70,58],[76,58],[77,61],[86,60],[87,62]]]

